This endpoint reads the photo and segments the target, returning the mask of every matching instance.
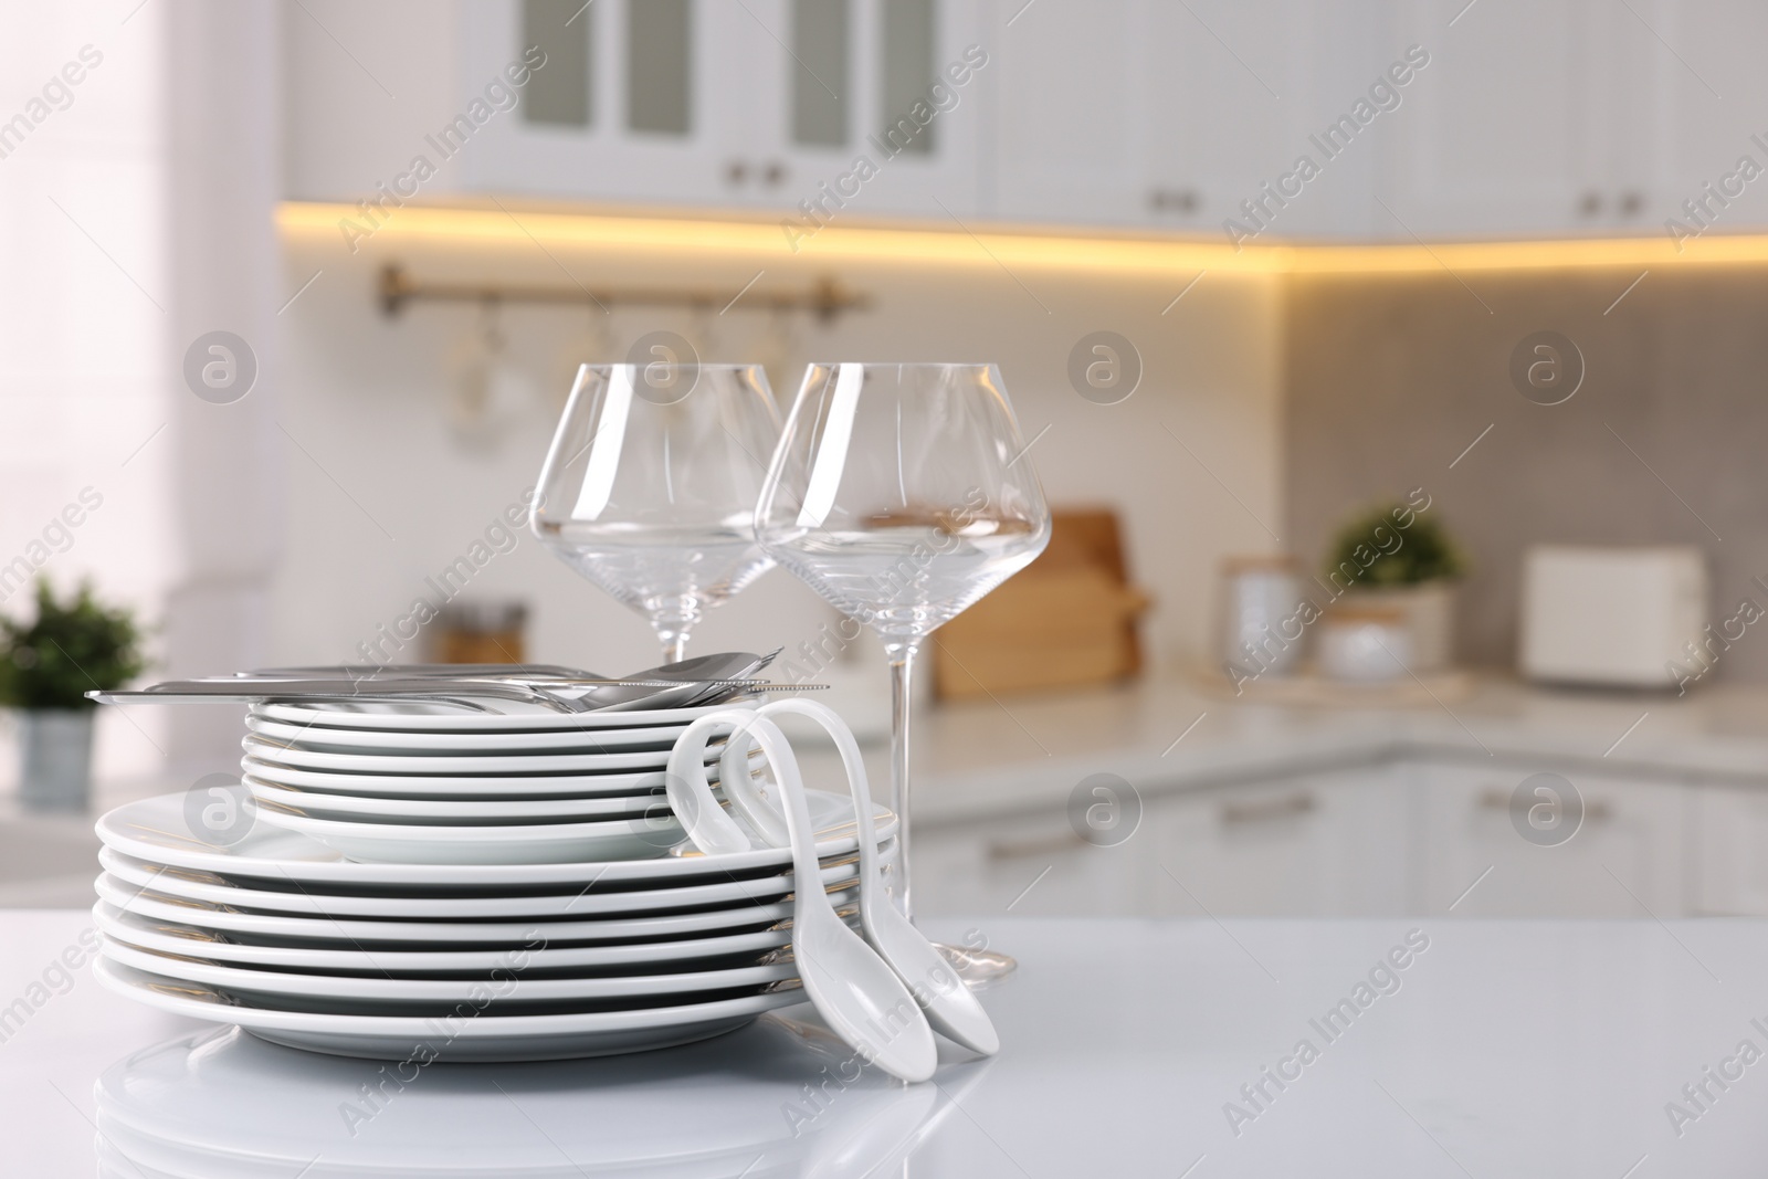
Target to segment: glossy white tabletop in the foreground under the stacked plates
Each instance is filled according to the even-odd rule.
[[[934,1084],[909,1089],[868,1069],[819,1103],[803,1085],[838,1075],[843,1053],[794,1008],[787,1020],[640,1057],[438,1064],[371,1105],[359,1085],[377,1080],[377,1064],[163,1016],[85,969],[57,993],[51,962],[67,947],[81,956],[85,928],[78,912],[0,914],[0,1006],[28,1008],[11,1008],[0,1043],[9,1175],[94,1174],[108,1149],[95,1124],[136,1151],[157,1138],[283,1156],[263,1168],[168,1168],[230,1179],[758,1179],[859,1175],[873,1163],[880,1174],[1034,1179],[1715,1179],[1768,1168],[1768,1057],[1734,1055],[1741,1041],[1768,1052],[1759,921],[990,921],[979,933],[1024,963],[985,992],[1001,1057],[967,1064],[951,1052]],[[1376,972],[1391,993],[1372,986],[1367,1008],[1338,1016],[1347,1027],[1324,1027],[1414,928],[1413,944],[1429,946]],[[46,970],[50,986],[32,992]],[[46,1000],[34,1006],[34,995]],[[1303,1039],[1317,1052],[1308,1062],[1292,1059]],[[194,1053],[177,1041],[198,1041]],[[1282,1089],[1266,1066],[1291,1075]],[[1706,1068],[1740,1075],[1720,1089]],[[94,1082],[106,1071],[127,1098],[99,1103]],[[1711,1099],[1696,1107],[1683,1085],[1703,1084]],[[1673,1126],[1671,1101],[1697,1115]],[[1243,1110],[1234,1126],[1229,1103]],[[677,1158],[635,1165],[661,1154]],[[159,1174],[110,1167],[97,1174]]]

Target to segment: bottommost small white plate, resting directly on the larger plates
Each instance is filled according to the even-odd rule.
[[[308,818],[272,806],[258,822],[313,836],[350,859],[380,864],[587,864],[668,856],[684,834],[668,806],[644,818],[587,824],[456,827]]]

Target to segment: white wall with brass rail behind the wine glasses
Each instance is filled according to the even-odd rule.
[[[741,304],[723,316],[506,308],[499,323],[534,392],[499,442],[474,445],[451,433],[447,405],[451,355],[479,331],[481,311],[417,304],[384,318],[373,283],[385,260],[417,278],[569,286],[562,265],[591,285],[730,292],[758,269],[760,285],[834,274],[872,295],[873,308],[833,325]],[[354,256],[329,230],[285,235],[285,270],[290,286],[320,278],[279,316],[281,421],[299,449],[285,454],[288,543],[271,608],[278,659],[359,658],[355,643],[405,613],[424,592],[423,578],[461,555],[530,486],[575,362],[622,359],[638,334],[658,327],[686,334],[707,361],[764,361],[783,399],[810,359],[997,361],[1027,437],[1054,426],[1031,451],[1050,500],[1124,513],[1135,574],[1158,601],[1147,640],[1160,663],[1199,656],[1218,559],[1275,548],[1257,520],[1282,527],[1280,279],[1208,276],[1162,316],[1190,274],[1010,276],[981,255],[974,263],[826,267],[783,249],[755,258],[631,249],[591,256],[557,242],[545,251],[527,242],[486,249],[401,237],[398,217]],[[1068,384],[1070,348],[1096,329],[1128,336],[1146,362],[1142,387],[1123,405],[1093,405]],[[605,672],[654,663],[642,619],[532,537],[492,560],[474,592],[534,603],[532,658]],[[693,649],[790,647],[827,617],[804,587],[773,571],[714,612]]]

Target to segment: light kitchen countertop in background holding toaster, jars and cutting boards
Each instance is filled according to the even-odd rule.
[[[1768,785],[1768,688],[1752,686],[1678,698],[1482,677],[1462,700],[1358,709],[1254,704],[1188,679],[1149,679],[942,704],[916,721],[914,817],[923,824],[1059,810],[1098,772],[1158,794],[1406,753]],[[868,764],[888,781],[888,757]]]

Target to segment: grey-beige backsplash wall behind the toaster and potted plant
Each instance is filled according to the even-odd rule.
[[[1768,606],[1750,585],[1768,573],[1768,269],[1655,269],[1616,304],[1635,278],[1292,279],[1289,546],[1312,571],[1347,513],[1425,488],[1471,560],[1459,654],[1485,666],[1515,663],[1520,557],[1535,541],[1699,544],[1715,619],[1745,596]],[[1561,405],[1510,382],[1512,348],[1536,331],[1584,355]],[[1722,652],[1715,679],[1768,681],[1768,629]]]

